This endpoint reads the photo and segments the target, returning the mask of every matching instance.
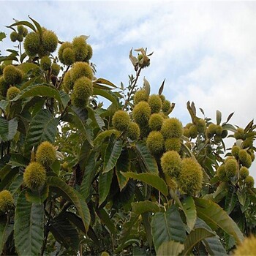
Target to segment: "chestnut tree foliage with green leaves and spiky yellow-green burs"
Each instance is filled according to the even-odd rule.
[[[135,75],[115,86],[96,78],[88,37],[61,42],[32,18],[9,28],[18,50],[0,56],[2,255],[226,255],[256,233],[253,121],[235,127],[217,110],[214,122],[187,102],[183,126],[169,117],[165,80],[158,95],[145,78],[138,86],[145,49],[130,51]]]

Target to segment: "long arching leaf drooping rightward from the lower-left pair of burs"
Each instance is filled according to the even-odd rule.
[[[74,188],[67,185],[58,177],[48,177],[47,184],[52,187],[54,191],[57,192],[57,195],[63,196],[65,199],[69,200],[70,203],[74,204],[74,206],[78,210],[80,218],[83,220],[84,227],[86,228],[86,230],[88,230],[91,216],[89,208],[83,197]]]

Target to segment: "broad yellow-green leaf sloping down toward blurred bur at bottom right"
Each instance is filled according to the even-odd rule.
[[[197,216],[203,219],[214,230],[217,227],[222,228],[230,236],[236,239],[236,242],[240,244],[244,240],[244,236],[239,230],[238,225],[231,219],[227,213],[210,200],[194,198],[195,206],[197,208]]]

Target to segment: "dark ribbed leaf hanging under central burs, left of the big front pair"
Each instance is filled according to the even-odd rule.
[[[136,143],[136,151],[139,159],[145,165],[146,170],[148,170],[148,173],[158,173],[157,162],[148,151],[146,143],[143,141]]]

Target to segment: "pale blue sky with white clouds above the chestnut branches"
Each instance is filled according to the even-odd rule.
[[[141,75],[157,93],[176,102],[172,115],[186,124],[186,102],[206,116],[245,127],[256,110],[256,2],[220,1],[0,1],[0,31],[28,15],[56,31],[62,41],[90,35],[97,77],[116,85],[133,72],[131,48],[154,51]],[[10,39],[0,44],[0,50]],[[136,53],[135,53],[136,54]],[[200,115],[200,114],[199,114]]]

